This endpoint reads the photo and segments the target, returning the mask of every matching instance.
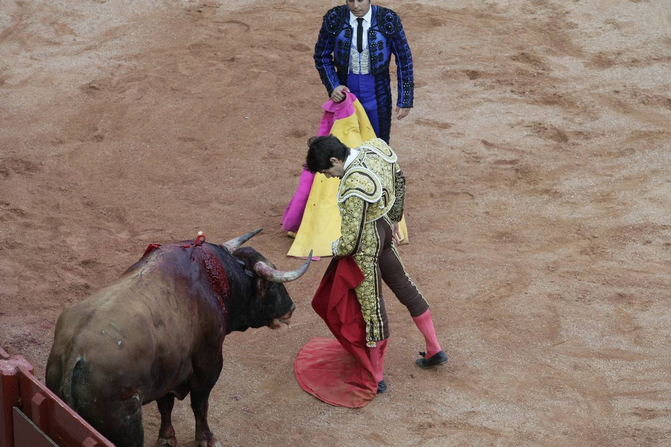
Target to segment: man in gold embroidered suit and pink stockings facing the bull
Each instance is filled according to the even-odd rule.
[[[422,368],[448,361],[438,344],[429,305],[411,281],[394,243],[397,223],[403,216],[405,178],[398,158],[388,144],[376,138],[350,149],[333,135],[308,142],[306,167],[327,177],[340,177],[338,208],[341,237],[331,245],[333,257],[352,256],[364,274],[356,296],[366,323],[366,341],[376,348],[389,338],[382,282],[407,307],[427,342]],[[384,340],[384,341],[383,341]],[[384,354],[382,354],[382,359]],[[382,359],[380,377],[382,380]],[[384,385],[386,389],[386,385]]]

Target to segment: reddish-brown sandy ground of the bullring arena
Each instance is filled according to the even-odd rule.
[[[148,243],[264,227],[250,245],[299,265],[279,222],[337,3],[0,3],[0,346],[44,379],[63,308]],[[380,5],[416,70],[391,138],[401,254],[451,361],[413,365],[423,339],[388,294],[390,391],[363,409],[303,392],[293,359],[329,334],[322,260],[289,284],[290,328],[227,337],[211,428],[227,446],[671,445],[670,4]],[[144,416],[151,446],[154,403]],[[173,417],[191,445],[188,399]]]

